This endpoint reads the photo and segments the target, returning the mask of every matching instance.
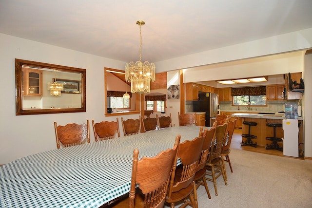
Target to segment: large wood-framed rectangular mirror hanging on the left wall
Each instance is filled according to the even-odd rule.
[[[86,70],[15,59],[16,115],[86,112]]]

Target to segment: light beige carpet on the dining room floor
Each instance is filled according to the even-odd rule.
[[[199,208],[312,208],[312,160],[231,149],[228,185],[217,178],[197,189]],[[167,207],[166,205],[165,207]],[[178,204],[176,204],[178,207]]]

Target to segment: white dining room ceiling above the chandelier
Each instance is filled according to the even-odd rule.
[[[0,0],[0,33],[124,62],[312,28],[312,0]]]

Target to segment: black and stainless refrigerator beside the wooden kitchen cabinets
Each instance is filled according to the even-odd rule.
[[[206,112],[206,125],[212,126],[218,113],[217,94],[199,93],[198,101],[193,101],[194,112]]]

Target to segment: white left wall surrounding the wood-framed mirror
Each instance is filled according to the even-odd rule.
[[[54,121],[116,120],[104,115],[104,67],[123,69],[124,62],[4,34],[0,46],[0,164],[56,149]],[[15,58],[86,69],[86,113],[15,115]],[[90,137],[94,142],[92,126]]]

